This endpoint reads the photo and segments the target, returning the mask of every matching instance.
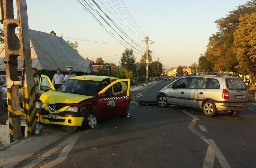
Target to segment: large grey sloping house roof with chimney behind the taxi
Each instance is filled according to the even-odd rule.
[[[70,45],[56,33],[45,33],[29,29],[32,66],[39,71],[54,71],[61,69],[66,72],[66,66],[73,66],[73,71],[79,75],[97,72],[91,61],[86,61]],[[17,40],[18,41],[18,40]],[[5,71],[4,44],[0,45],[0,71]],[[21,71],[21,58],[18,58],[18,71]]]

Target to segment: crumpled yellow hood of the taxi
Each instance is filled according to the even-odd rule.
[[[93,98],[93,96],[85,96],[74,93],[64,93],[49,90],[40,96],[40,100],[43,103],[55,104],[55,103],[79,103],[85,99]]]

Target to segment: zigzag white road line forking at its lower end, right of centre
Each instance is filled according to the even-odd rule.
[[[205,141],[207,144],[209,144],[210,149],[207,150],[206,156],[204,159],[204,165],[203,168],[213,168],[214,158],[215,155],[218,158],[218,161],[220,162],[221,166],[223,168],[231,168],[231,166],[228,164],[227,160],[219,150],[218,146],[215,144],[215,142],[212,139],[207,139],[203,134],[201,134],[199,131],[197,131],[194,127],[196,124],[196,120],[199,120],[197,116],[194,116],[188,112],[186,112],[186,109],[182,110],[182,112],[186,113],[187,115],[193,117],[193,120],[187,127],[191,132],[195,133],[197,136],[199,136],[203,141]],[[212,154],[214,152],[214,155]]]

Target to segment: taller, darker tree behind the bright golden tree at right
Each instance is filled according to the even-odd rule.
[[[248,1],[245,5],[238,6],[236,10],[230,11],[225,18],[216,20],[218,32],[209,37],[205,52],[207,60],[213,64],[213,71],[237,71],[238,61],[233,52],[235,49],[233,34],[239,28],[240,15],[251,15],[254,11],[256,11],[256,0]]]

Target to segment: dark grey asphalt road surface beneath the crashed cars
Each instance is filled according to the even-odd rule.
[[[160,81],[131,94],[154,100],[169,83]],[[29,167],[48,153],[34,167],[254,168],[255,111],[256,106],[250,105],[239,115],[218,112],[207,117],[201,109],[140,106],[132,100],[129,118],[109,118],[96,129],[78,129],[17,167]]]

